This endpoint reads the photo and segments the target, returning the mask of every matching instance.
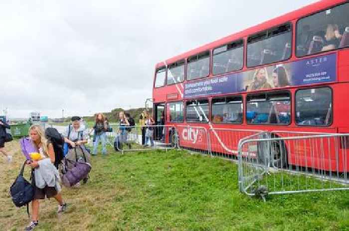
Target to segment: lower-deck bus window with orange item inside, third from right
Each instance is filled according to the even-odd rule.
[[[212,99],[212,123],[242,123],[242,97]]]

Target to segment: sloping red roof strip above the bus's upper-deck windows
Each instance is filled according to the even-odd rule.
[[[174,56],[174,57],[166,60],[166,64],[172,64],[176,61],[183,60],[186,57],[190,57],[192,55],[216,48],[219,45],[227,44],[227,43],[232,42],[234,40],[241,39],[243,37],[255,34],[259,31],[266,30],[270,27],[277,26],[277,25],[280,25],[280,24],[288,22],[288,21],[292,21],[292,20],[297,19],[297,18],[301,18],[303,16],[312,14],[312,13],[317,12],[319,10],[323,10],[323,9],[326,9],[326,8],[331,7],[333,5],[337,5],[337,4],[346,2],[346,1],[347,0],[321,0],[321,1],[317,1],[315,3],[304,6],[300,9],[291,11],[291,12],[286,13],[284,15],[281,15],[279,17],[262,22],[256,26],[252,26],[252,27],[247,28],[245,30],[242,30],[240,32],[228,35],[222,39],[218,39],[216,41],[210,42],[208,44],[205,44],[205,45],[200,46],[198,48],[192,49],[192,50],[187,51],[185,53],[182,53],[180,55]],[[159,68],[159,67],[163,67],[163,66],[165,66],[165,61],[158,63],[155,67]]]

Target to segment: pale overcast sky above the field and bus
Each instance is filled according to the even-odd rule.
[[[0,0],[0,114],[141,107],[154,65],[315,0]]]

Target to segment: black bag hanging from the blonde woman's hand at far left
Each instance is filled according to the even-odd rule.
[[[14,205],[17,207],[22,207],[26,205],[27,213],[29,215],[28,204],[33,200],[34,187],[23,177],[24,166],[25,166],[25,162],[23,163],[23,166],[19,172],[19,175],[17,176],[17,178],[9,188],[9,191],[10,191]]]

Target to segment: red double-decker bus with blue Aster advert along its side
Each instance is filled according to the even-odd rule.
[[[158,124],[164,116],[169,125],[207,130],[349,133],[349,2],[318,1],[155,68]],[[194,138],[179,131],[180,146]],[[211,149],[222,146],[217,137]]]

